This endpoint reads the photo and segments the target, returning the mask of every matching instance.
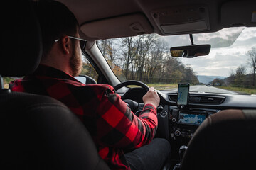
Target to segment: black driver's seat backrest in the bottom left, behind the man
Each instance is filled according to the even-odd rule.
[[[0,169],[108,169],[82,122],[47,96],[0,94]]]

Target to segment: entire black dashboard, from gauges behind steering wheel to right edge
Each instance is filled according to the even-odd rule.
[[[158,134],[169,140],[187,144],[203,120],[225,109],[256,109],[255,95],[208,94],[193,92],[189,95],[188,106],[177,106],[177,91],[158,91],[161,98],[158,109]],[[117,92],[122,98],[129,98],[142,105],[146,91],[132,88]]]

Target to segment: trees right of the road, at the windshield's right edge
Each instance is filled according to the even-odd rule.
[[[247,53],[247,65],[240,65],[232,70],[225,79],[214,79],[213,85],[255,88],[256,86],[256,47]]]

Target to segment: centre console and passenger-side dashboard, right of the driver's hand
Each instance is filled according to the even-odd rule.
[[[256,96],[240,94],[190,93],[188,106],[176,105],[176,91],[161,91],[169,106],[169,136],[187,143],[203,120],[225,109],[255,109]]]

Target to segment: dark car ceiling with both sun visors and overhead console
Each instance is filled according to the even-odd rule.
[[[88,40],[145,33],[181,35],[256,26],[255,1],[58,0],[70,8]]]

